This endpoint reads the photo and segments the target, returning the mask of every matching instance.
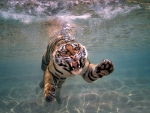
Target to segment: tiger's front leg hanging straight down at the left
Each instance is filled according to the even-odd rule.
[[[53,83],[53,77],[48,70],[44,77],[44,96],[45,100],[51,102],[55,98],[56,87]]]

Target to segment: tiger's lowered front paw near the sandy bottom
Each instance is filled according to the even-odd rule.
[[[44,95],[47,102],[51,102],[55,98],[56,87],[53,84],[45,84]]]

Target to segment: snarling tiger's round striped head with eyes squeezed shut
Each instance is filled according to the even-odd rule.
[[[68,42],[60,45],[53,52],[54,62],[69,70],[72,74],[78,75],[81,73],[87,58],[86,48],[76,42]]]

